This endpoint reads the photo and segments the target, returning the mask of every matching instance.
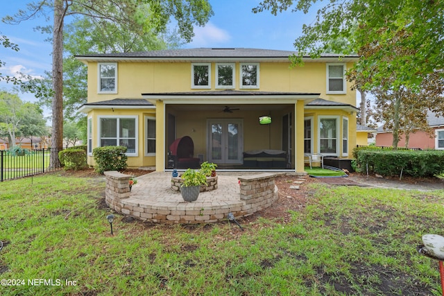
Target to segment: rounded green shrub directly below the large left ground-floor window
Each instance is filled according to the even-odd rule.
[[[124,146],[105,146],[98,147],[92,150],[92,156],[96,162],[94,170],[97,173],[103,174],[105,171],[123,171],[128,164],[126,160],[128,156],[125,155],[126,147]]]

